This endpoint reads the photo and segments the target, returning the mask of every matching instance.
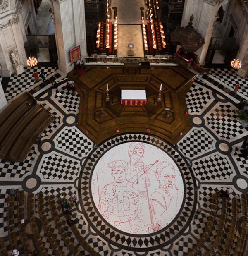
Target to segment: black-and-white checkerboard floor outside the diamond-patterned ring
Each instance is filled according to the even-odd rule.
[[[9,86],[5,91],[7,100],[25,90],[29,90],[31,86],[35,86],[33,72],[45,72],[49,76],[56,74],[57,69],[49,67],[27,68],[18,77],[11,77]],[[237,77],[234,70],[211,69],[210,74],[216,77],[217,80],[229,85],[230,83],[234,85],[239,83],[239,91],[244,96],[247,96],[247,78]],[[11,187],[22,189],[23,185],[25,185],[23,181],[29,176],[38,182],[35,193],[42,191],[44,195],[53,194],[57,204],[59,204],[59,195],[62,192],[68,198],[72,193],[78,193],[79,173],[84,160],[93,150],[93,142],[76,126],[68,127],[67,124],[63,123],[64,115],[68,113],[77,114],[79,112],[79,96],[77,93],[72,95],[64,91],[63,87],[66,81],[67,77],[65,76],[61,76],[58,79],[60,83],[59,93],[53,91],[49,102],[45,97],[44,100],[39,98],[39,103],[47,105],[55,116],[55,120],[42,134],[41,145],[34,144],[23,163],[10,163],[0,160],[0,177],[3,179],[0,190],[0,234],[3,237],[7,236],[7,189]],[[210,87],[205,84],[204,86],[198,81],[200,79],[196,79],[186,96],[188,112],[192,116],[192,127],[178,141],[177,146],[181,155],[192,163],[192,170],[198,184],[196,201],[203,210],[202,214],[198,220],[192,220],[184,233],[177,237],[172,244],[162,248],[159,247],[153,251],[150,251],[149,248],[142,248],[141,251],[143,252],[137,251],[134,253],[132,248],[128,250],[121,246],[110,245],[104,239],[104,236],[99,236],[90,228],[81,206],[78,205],[77,208],[73,206],[73,214],[79,218],[79,222],[76,224],[78,230],[86,238],[86,241],[94,247],[95,251],[98,251],[101,255],[141,255],[145,250],[149,251],[149,255],[154,256],[186,255],[196,244],[205,228],[207,216],[209,215],[211,193],[220,189],[229,189],[231,191],[230,198],[232,199],[234,196],[237,197],[238,194],[241,194],[244,188],[247,188],[248,161],[241,157],[240,149],[243,139],[248,136],[248,129],[243,127],[236,119],[234,112],[236,105],[231,98],[225,101],[223,97],[222,102],[219,102],[213,96],[214,93],[219,93],[221,96],[221,92],[215,90],[215,85]],[[139,137],[139,140],[142,140],[142,137]],[[175,154],[174,159],[178,159],[178,156]],[[77,194],[77,196],[79,195]],[[37,196],[35,203],[36,216],[39,218]],[[48,196],[45,197],[45,212],[59,248],[65,255],[69,254],[52,221]],[[65,229],[71,236],[71,242],[81,250],[82,254],[86,254],[67,226],[62,212],[59,214]],[[103,227],[103,230],[105,232],[107,229],[105,230],[105,227]],[[216,233],[213,232],[201,252],[202,255],[211,249],[211,243],[214,241],[215,236]],[[127,237],[125,242],[128,243],[129,239]],[[138,237],[136,240],[138,243]],[[153,241],[152,243],[156,244],[157,242]],[[43,244],[47,249],[48,255],[53,255],[52,247],[45,235],[43,236]],[[5,241],[5,245],[10,250],[8,241]],[[231,252],[233,254],[233,251]]]

